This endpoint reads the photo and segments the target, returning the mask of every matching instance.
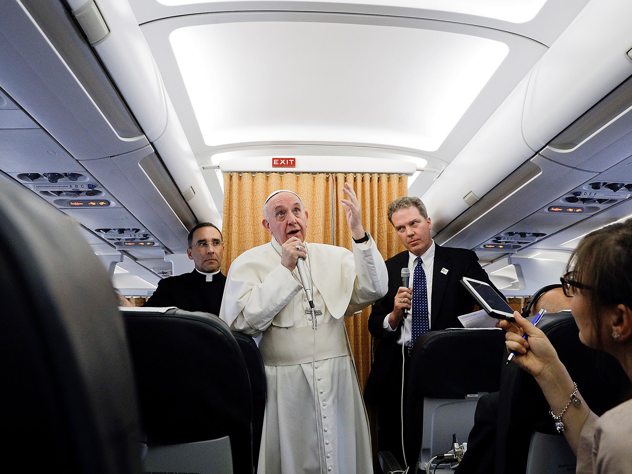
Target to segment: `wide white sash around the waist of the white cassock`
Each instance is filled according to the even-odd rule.
[[[264,331],[259,343],[264,365],[298,365],[349,355],[344,321],[319,324],[315,333],[314,358],[312,326]]]

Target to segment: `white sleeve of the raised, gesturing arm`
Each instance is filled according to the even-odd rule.
[[[375,241],[369,236],[368,242],[351,245],[357,276],[349,303],[359,305],[382,298],[389,289],[389,275]]]

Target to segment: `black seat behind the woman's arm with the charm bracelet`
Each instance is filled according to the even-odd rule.
[[[581,343],[570,312],[547,314],[538,327],[549,337],[597,415],[629,398],[632,386],[619,362]],[[496,474],[574,472],[574,454],[564,436],[557,433],[549,404],[535,379],[513,363],[502,365]]]

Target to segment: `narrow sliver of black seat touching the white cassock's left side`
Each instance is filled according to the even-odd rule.
[[[240,346],[241,354],[246,362],[246,367],[248,367],[248,378],[252,392],[252,457],[255,471],[257,471],[267,394],[264,358],[261,356],[255,339],[238,331],[233,331],[233,336]]]

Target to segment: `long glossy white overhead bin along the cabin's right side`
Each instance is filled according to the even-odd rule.
[[[594,1],[562,32],[423,195],[428,213],[434,216],[435,231],[468,209],[463,198],[470,192],[483,197],[632,75],[627,55],[632,44],[630,15],[632,4]],[[564,161],[548,151],[542,155],[569,167],[583,161]],[[607,161],[601,166],[612,164]],[[586,165],[581,169],[594,173],[605,167]],[[557,190],[546,192],[550,192],[550,200],[556,198]]]

